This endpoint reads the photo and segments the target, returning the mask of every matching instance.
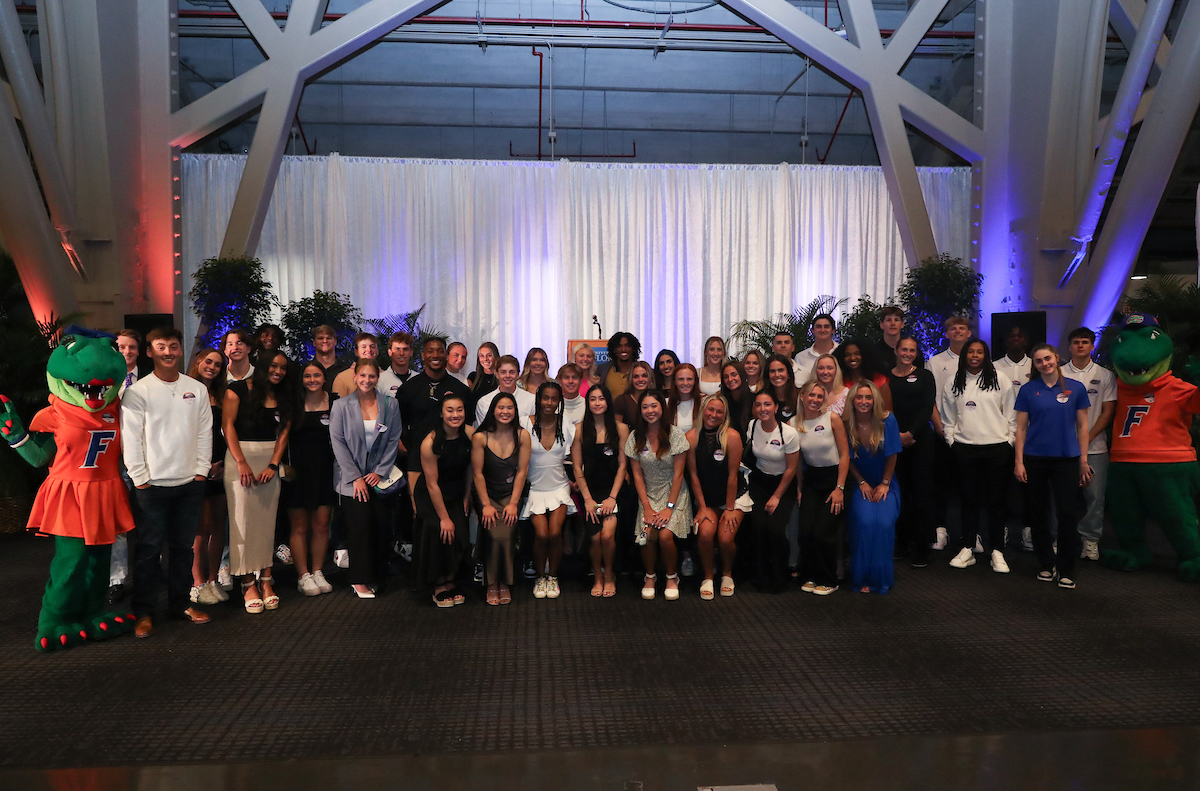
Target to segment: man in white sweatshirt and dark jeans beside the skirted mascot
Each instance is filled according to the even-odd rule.
[[[134,635],[154,633],[151,613],[162,585],[162,555],[168,553],[167,612],[192,623],[209,616],[191,606],[192,541],[211,469],[212,409],[209,391],[181,376],[184,336],[172,328],[146,336],[154,372],[138,379],[121,403],[125,467],[138,504],[138,543],[133,555]]]

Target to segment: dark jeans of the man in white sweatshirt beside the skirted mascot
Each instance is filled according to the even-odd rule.
[[[204,481],[182,486],[134,489],[138,502],[138,543],[133,553],[136,616],[149,616],[158,604],[162,553],[167,551],[167,611],[180,615],[192,606],[192,543],[200,523]]]

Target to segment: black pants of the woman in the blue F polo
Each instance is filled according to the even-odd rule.
[[[1075,576],[1079,557],[1079,520],[1087,507],[1084,490],[1079,487],[1079,456],[1026,456],[1025,474],[1030,483],[1026,493],[1033,523],[1033,550],[1043,571],[1058,568],[1058,576]],[[1050,534],[1050,499],[1054,498],[1058,516],[1058,555],[1055,556]]]

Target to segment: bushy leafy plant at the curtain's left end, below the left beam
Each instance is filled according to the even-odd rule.
[[[192,277],[196,284],[187,296],[200,319],[198,346],[216,347],[232,329],[253,331],[280,307],[263,262],[257,258],[209,258]]]

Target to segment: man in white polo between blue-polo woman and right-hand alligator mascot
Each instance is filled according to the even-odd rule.
[[[1079,521],[1079,537],[1084,539],[1080,557],[1100,559],[1100,533],[1104,531],[1104,487],[1109,481],[1109,445],[1104,430],[1112,423],[1117,411],[1117,378],[1108,368],[1092,360],[1096,332],[1080,326],[1067,336],[1070,344],[1070,362],[1062,366],[1062,374],[1087,389],[1092,406],[1087,408],[1087,463],[1092,467],[1092,480],[1084,489],[1087,513]]]

